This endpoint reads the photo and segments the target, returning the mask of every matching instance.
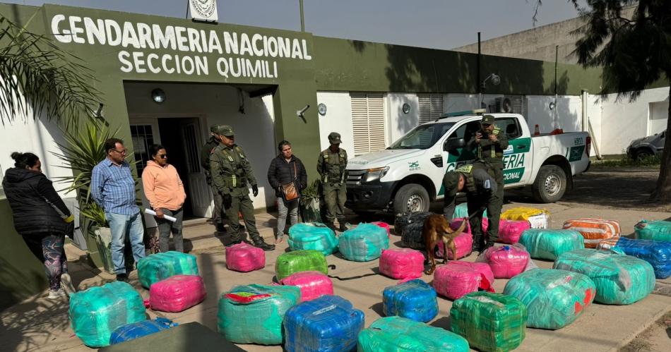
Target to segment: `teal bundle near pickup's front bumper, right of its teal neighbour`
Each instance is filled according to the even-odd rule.
[[[389,248],[387,231],[374,224],[360,224],[340,234],[338,248],[347,260],[368,262],[380,257]]]

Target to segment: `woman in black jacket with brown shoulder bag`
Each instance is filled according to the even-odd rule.
[[[282,185],[294,183],[298,192],[307,187],[307,172],[305,166],[291,152],[291,143],[283,140],[278,145],[280,154],[273,159],[271,166],[268,167],[268,182],[275,189],[275,195],[278,197],[278,232],[275,243],[280,243],[284,237],[284,228],[287,223],[287,213],[290,215],[291,225],[298,222],[298,202],[292,200],[287,202],[282,196]]]

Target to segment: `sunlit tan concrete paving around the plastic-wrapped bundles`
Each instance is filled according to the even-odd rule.
[[[594,174],[592,174],[594,172]],[[634,204],[627,205],[627,200],[622,200],[624,206],[617,207],[618,202],[608,201],[603,198],[591,197],[592,192],[601,193],[603,197],[611,196],[610,193],[634,192],[626,186],[626,178],[629,174],[612,173],[609,170],[596,170],[583,176],[580,182],[581,188],[589,186],[590,178],[598,180],[601,186],[595,187],[590,192],[574,190],[566,198],[557,204],[535,205],[529,203],[523,192],[511,193],[504,209],[519,205],[544,207],[550,211],[550,227],[559,228],[566,219],[574,217],[605,217],[617,219],[622,224],[625,234],[633,233],[633,226],[641,219],[670,219],[671,212],[636,210]],[[641,175],[643,171],[631,173]],[[617,174],[617,175],[616,175]],[[610,176],[609,176],[610,175]],[[625,175],[625,176],[622,176]],[[611,177],[618,178],[619,188],[612,192],[604,191],[603,183]],[[648,175],[648,178],[653,176]],[[623,180],[624,179],[624,180]],[[621,182],[622,181],[622,182]],[[650,182],[648,181],[643,181]],[[653,183],[654,185],[654,183]],[[639,185],[640,186],[640,185]],[[578,202],[580,194],[585,195],[589,201]],[[624,194],[624,193],[623,193]],[[637,198],[639,202],[644,195]],[[600,200],[601,199],[601,200]],[[434,205],[432,208],[440,208]],[[659,209],[658,207],[654,207]],[[379,219],[391,221],[389,217],[378,215]],[[357,222],[355,216],[349,221]],[[392,221],[393,222],[393,221]],[[257,224],[261,229],[261,235],[266,241],[271,241],[275,217],[271,214],[259,214]],[[274,277],[274,265],[277,256],[287,249],[287,245],[279,245],[274,252],[268,253],[266,257],[266,268],[256,272],[240,274],[230,272],[225,267],[225,256],[222,243],[227,242],[227,236],[216,236],[213,226],[209,224],[194,224],[186,228],[186,248],[198,257],[198,267],[206,281],[208,298],[196,307],[180,313],[160,313],[147,310],[150,317],[157,315],[170,317],[176,322],[198,321],[210,329],[216,330],[217,302],[220,293],[227,291],[238,284],[261,283],[270,284]],[[392,247],[397,247],[400,237],[392,236]],[[76,248],[69,247],[69,257],[76,257]],[[465,260],[474,260],[475,255],[470,255]],[[540,267],[552,267],[552,262],[535,260]],[[382,316],[381,292],[386,286],[396,284],[393,279],[388,279],[377,274],[378,261],[372,262],[349,262],[331,255],[328,263],[335,265],[329,274],[343,278],[333,280],[335,294],[343,296],[354,303],[355,307],[363,310],[366,316],[366,325]],[[112,276],[100,273],[97,269],[90,269],[78,262],[71,262],[71,274],[78,289],[86,289],[97,286],[105,281],[112,280]],[[351,279],[350,279],[351,278]],[[424,276],[427,282],[432,277]],[[497,279],[494,289],[502,291],[505,279]],[[131,274],[131,284],[146,297],[148,291],[142,289],[137,281],[136,272]],[[667,296],[668,295],[668,296]],[[68,305],[66,301],[47,301],[44,294],[31,298],[23,303],[0,312],[0,350],[1,351],[90,351],[81,344],[81,341],[73,335],[69,327],[67,316]],[[429,324],[449,329],[449,310],[451,301],[439,298],[439,315]],[[583,313],[583,315],[568,327],[557,331],[541,329],[527,329],[526,338],[518,351],[611,351],[627,345],[624,351],[671,351],[671,339],[663,326],[670,317],[665,313],[671,311],[671,279],[658,281],[657,294],[652,294],[638,303],[626,306],[600,305],[595,303]],[[662,321],[657,322],[658,320]],[[650,329],[648,329],[650,328]],[[636,338],[638,336],[638,339]],[[643,344],[636,344],[643,341]],[[651,341],[648,343],[648,341]],[[633,344],[633,345],[632,345]],[[242,346],[249,351],[281,351],[278,346]]]

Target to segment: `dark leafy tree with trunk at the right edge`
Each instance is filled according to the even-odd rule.
[[[671,4],[667,0],[569,0],[586,24],[574,54],[584,67],[602,67],[603,91],[634,101],[660,80],[671,85]],[[542,1],[536,2],[535,8]],[[633,15],[624,9],[632,7]],[[534,16],[535,21],[535,16]],[[671,94],[671,87],[670,87]],[[671,131],[671,109],[667,131]],[[666,138],[657,186],[649,200],[671,202],[671,138]]]

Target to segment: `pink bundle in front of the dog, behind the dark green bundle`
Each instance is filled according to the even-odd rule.
[[[494,292],[492,283],[494,274],[487,263],[454,261],[436,269],[433,286],[437,293],[456,300],[478,289]]]

